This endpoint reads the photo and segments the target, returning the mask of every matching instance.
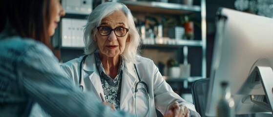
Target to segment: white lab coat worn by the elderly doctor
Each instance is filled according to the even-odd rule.
[[[82,58],[83,57],[72,59],[66,63],[63,63],[62,65],[63,70],[67,73],[67,77],[72,78],[76,86],[79,86],[79,74],[81,73],[79,67]],[[168,106],[174,101],[178,101],[179,103],[186,105],[190,109],[191,113],[199,115],[195,111],[193,104],[185,101],[183,98],[172,91],[171,87],[162,78],[158,68],[155,66],[151,59],[138,56],[137,60],[140,61],[139,64],[136,64],[140,79],[147,83],[149,89],[150,117],[156,117],[156,108],[162,114],[165,114],[167,112]],[[82,76],[84,92],[96,92],[97,98],[101,99],[100,93],[104,93],[104,91],[96,67],[94,54],[89,55],[85,59]],[[134,64],[130,61],[125,61],[122,78],[120,109],[130,112],[133,115],[135,115],[135,86],[138,81],[139,80],[137,78]],[[141,85],[141,87],[144,87],[144,85]],[[138,117],[148,117],[147,93],[144,90],[139,90],[137,92],[136,99]]]

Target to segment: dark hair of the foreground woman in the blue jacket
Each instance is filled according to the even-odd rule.
[[[32,38],[50,47],[48,26],[50,0],[0,0],[0,31],[9,21],[21,37]]]

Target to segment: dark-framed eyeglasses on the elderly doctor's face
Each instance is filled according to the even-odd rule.
[[[114,31],[114,33],[117,37],[124,37],[127,34],[127,32],[129,31],[128,28],[124,28],[124,27],[116,27],[116,28],[112,29],[107,26],[99,26],[99,27],[97,27],[97,29],[102,36],[108,36],[108,35],[110,35],[111,31]]]

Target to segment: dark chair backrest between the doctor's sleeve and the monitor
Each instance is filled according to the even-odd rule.
[[[205,108],[207,105],[209,81],[209,78],[198,79],[192,83],[191,87],[193,104],[201,117],[206,117]]]

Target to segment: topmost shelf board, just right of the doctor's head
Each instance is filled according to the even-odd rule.
[[[158,14],[185,14],[190,12],[201,12],[200,6],[189,6],[177,3],[166,3],[157,1],[128,1],[120,0],[126,4],[131,11],[158,13]]]

